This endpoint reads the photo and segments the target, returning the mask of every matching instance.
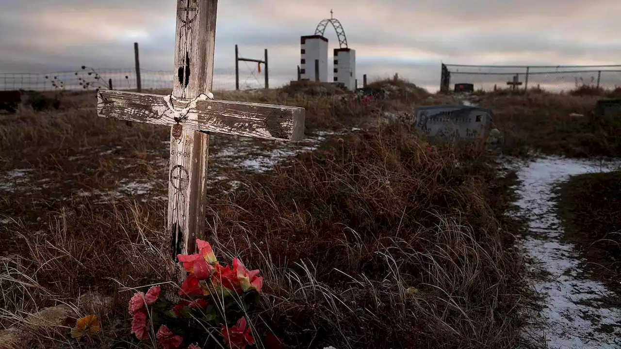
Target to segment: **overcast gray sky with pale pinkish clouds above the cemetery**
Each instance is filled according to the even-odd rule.
[[[172,73],[175,0],[0,4],[0,72],[132,68],[138,42],[143,69]],[[437,89],[441,61],[621,63],[619,0],[229,0],[218,5],[215,68],[221,74],[214,83],[233,71],[235,43],[248,58],[261,58],[268,48],[273,86],[294,79],[299,37],[314,34],[330,9],[356,50],[359,81],[365,73],[373,79],[398,72]],[[325,36],[331,57],[337,35],[329,27]],[[249,66],[256,75],[256,66]],[[245,63],[240,75],[242,81],[251,76]]]

